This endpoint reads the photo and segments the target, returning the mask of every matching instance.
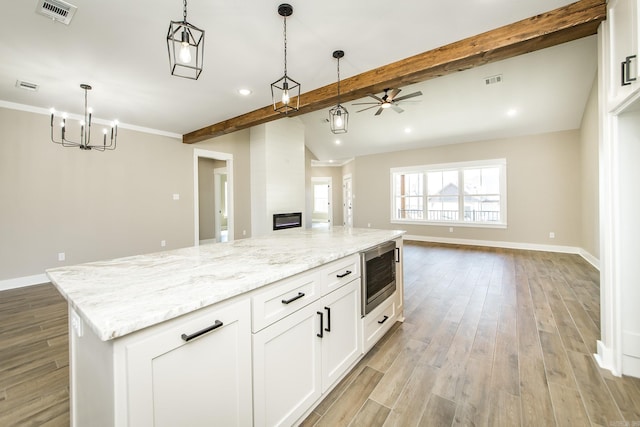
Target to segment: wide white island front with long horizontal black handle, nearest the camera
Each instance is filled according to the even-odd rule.
[[[252,424],[249,301],[128,345],[127,364],[131,426]]]

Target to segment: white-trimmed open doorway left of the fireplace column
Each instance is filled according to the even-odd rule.
[[[194,245],[226,242],[233,232],[233,155],[193,150]]]

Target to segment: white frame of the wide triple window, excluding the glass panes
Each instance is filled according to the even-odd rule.
[[[464,171],[469,169],[479,169],[486,167],[499,168],[499,196],[500,196],[500,221],[476,221],[470,222],[464,220],[464,190],[458,193],[458,218],[462,220],[455,221],[430,221],[428,220],[428,199],[429,190],[427,182],[427,174],[429,172],[442,172],[455,170],[458,173],[458,187],[464,189]],[[422,206],[423,216],[425,219],[401,219],[396,218],[395,213],[397,211],[395,203],[396,199],[400,196],[395,194],[395,176],[397,174],[407,173],[421,173],[423,174],[423,194],[422,194]],[[406,166],[390,168],[389,170],[390,180],[390,222],[392,224],[415,224],[415,225],[430,225],[430,226],[443,226],[443,227],[477,227],[477,228],[507,228],[507,160],[506,159],[489,159],[489,160],[476,160],[468,162],[455,162],[455,163],[437,163],[427,164],[419,166]]]

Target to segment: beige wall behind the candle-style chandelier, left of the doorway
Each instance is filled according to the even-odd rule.
[[[193,244],[192,156],[127,129],[115,151],[63,148],[47,115],[0,108],[0,280]]]

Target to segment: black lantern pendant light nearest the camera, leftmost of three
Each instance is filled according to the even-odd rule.
[[[204,59],[204,30],[187,22],[187,0],[182,16],[182,21],[171,21],[167,34],[171,75],[198,80]]]

